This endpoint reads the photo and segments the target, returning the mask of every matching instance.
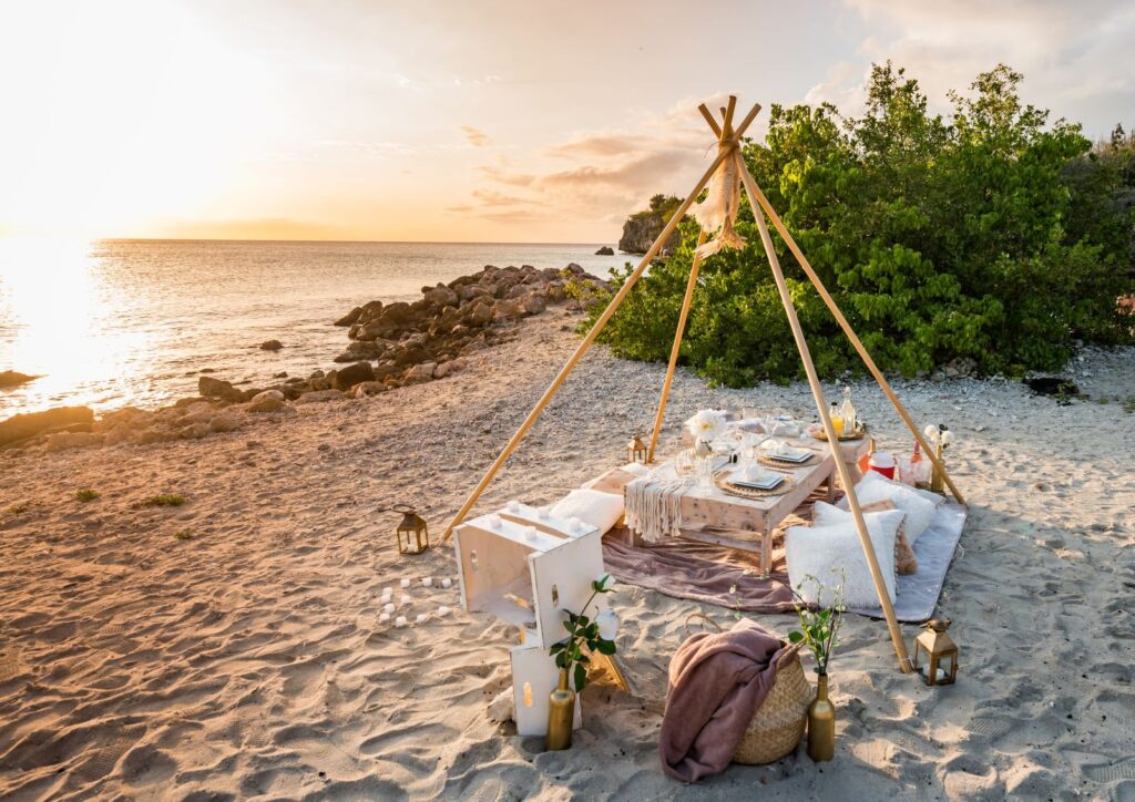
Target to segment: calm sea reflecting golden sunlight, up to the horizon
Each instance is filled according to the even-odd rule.
[[[0,390],[0,420],[62,404],[160,406],[193,395],[202,369],[260,383],[333,366],[368,301],[486,264],[606,277],[627,260],[598,245],[0,239],[0,370],[42,375]],[[278,339],[276,353],[260,343]]]

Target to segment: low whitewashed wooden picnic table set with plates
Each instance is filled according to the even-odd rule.
[[[792,467],[785,463],[775,470],[791,475],[794,482],[792,489],[780,496],[763,498],[746,498],[733,496],[713,487],[700,484],[690,487],[682,493],[681,516],[682,537],[717,546],[759,552],[760,573],[772,571],[773,532],[776,525],[788,517],[813,492],[824,487],[827,500],[835,493],[835,461],[826,442],[810,440],[789,440],[793,446],[808,448],[818,455],[810,465]],[[866,441],[850,441],[844,445],[861,444],[861,450],[849,454],[841,448],[847,459],[854,456],[858,459],[866,453]],[[850,449],[849,449],[850,450]],[[770,470],[774,470],[770,466]]]

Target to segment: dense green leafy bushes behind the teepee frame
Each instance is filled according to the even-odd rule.
[[[1059,369],[1078,339],[1130,340],[1116,299],[1132,289],[1132,140],[1120,130],[1093,150],[1078,125],[1025,104],[1020,82],[1004,65],[983,73],[968,93],[950,93],[944,118],[903,69],[876,65],[861,117],[773,105],[765,142],[745,146],[757,184],[884,370],[909,375],[968,357],[1017,374]],[[701,267],[682,360],[731,386],[798,378],[747,208],[738,230],[747,247]],[[680,231],[604,331],[622,356],[669,357],[697,227]],[[773,237],[817,369],[857,369]]]

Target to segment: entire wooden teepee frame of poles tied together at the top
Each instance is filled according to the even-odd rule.
[[[902,641],[902,633],[899,630],[898,621],[894,617],[894,608],[892,607],[890,597],[886,593],[886,585],[883,582],[883,574],[878,567],[878,559],[875,556],[875,549],[872,546],[871,537],[867,533],[867,524],[864,521],[863,509],[859,506],[859,499],[857,498],[855,492],[855,482],[851,478],[851,473],[847,466],[847,463],[843,462],[842,455],[840,454],[839,438],[835,436],[835,430],[832,427],[832,420],[827,413],[827,402],[824,398],[824,390],[819,385],[819,378],[816,375],[816,368],[812,362],[812,354],[808,351],[808,343],[805,339],[804,331],[800,328],[800,321],[797,319],[796,309],[792,305],[792,297],[789,293],[788,285],[784,281],[784,272],[781,270],[780,259],[776,255],[776,250],[773,246],[772,235],[770,234],[768,226],[765,222],[766,214],[768,217],[768,220],[771,220],[773,226],[776,228],[777,234],[780,234],[781,238],[784,240],[789,250],[792,252],[792,255],[800,264],[800,268],[804,270],[805,275],[808,277],[813,286],[816,288],[816,292],[819,293],[819,297],[824,301],[824,304],[827,306],[829,310],[831,310],[832,315],[835,318],[835,321],[840,324],[840,328],[843,329],[843,334],[847,335],[847,338],[850,340],[851,345],[855,347],[860,358],[863,358],[863,362],[867,366],[867,370],[875,378],[875,381],[878,382],[880,388],[883,390],[884,394],[886,394],[886,397],[891,400],[891,404],[894,406],[896,412],[898,412],[899,417],[902,419],[902,422],[906,423],[907,428],[910,430],[910,433],[914,434],[915,440],[922,446],[923,454],[925,454],[930,458],[930,461],[934,464],[934,467],[936,467],[941,472],[942,476],[945,479],[947,486],[950,488],[950,492],[953,493],[955,498],[960,504],[964,504],[965,500],[962,499],[961,493],[958,491],[958,488],[955,486],[953,480],[950,479],[950,474],[947,472],[945,465],[942,464],[941,459],[939,459],[936,455],[936,451],[933,448],[931,448],[930,444],[923,437],[923,433],[915,424],[914,419],[910,417],[910,413],[908,413],[906,407],[903,407],[901,402],[899,402],[898,396],[894,395],[894,390],[891,389],[891,385],[886,381],[885,377],[883,377],[883,373],[882,371],[878,370],[878,366],[875,364],[875,361],[871,358],[871,354],[867,353],[867,349],[859,340],[859,337],[851,329],[851,324],[848,323],[847,318],[843,316],[843,313],[835,304],[835,301],[829,294],[826,287],[824,287],[823,281],[819,280],[819,277],[816,275],[816,271],[813,270],[812,264],[805,258],[804,253],[800,251],[800,247],[796,244],[796,240],[792,238],[792,235],[789,234],[788,228],[784,227],[784,222],[776,213],[776,210],[773,209],[771,203],[768,203],[768,199],[765,197],[765,194],[760,191],[760,187],[757,186],[757,183],[753,179],[753,176],[749,174],[748,167],[746,167],[745,160],[741,158],[740,145],[741,145],[741,138],[745,136],[746,129],[749,127],[749,125],[756,118],[757,113],[760,111],[760,105],[759,104],[754,105],[753,110],[749,111],[748,115],[746,115],[745,119],[741,120],[740,125],[738,125],[734,128],[733,115],[735,108],[737,108],[737,98],[730,95],[728,105],[721,109],[722,121],[721,124],[718,124],[717,120],[714,118],[714,116],[711,113],[709,109],[706,108],[705,103],[698,107],[698,111],[701,112],[701,116],[706,119],[706,123],[713,130],[714,136],[717,137],[716,158],[709,164],[708,169],[706,169],[701,178],[698,179],[698,183],[693,185],[693,188],[686,196],[686,200],[682,201],[682,203],[678,206],[678,210],[670,218],[670,221],[666,223],[665,228],[662,229],[662,234],[658,235],[658,238],[655,239],[654,244],[642,256],[642,260],[639,262],[638,267],[634,268],[634,270],[630,273],[630,276],[627,277],[627,280],[623,282],[623,286],[611,299],[611,303],[607,305],[607,309],[604,310],[603,314],[600,314],[598,320],[595,321],[595,324],[591,327],[590,331],[587,332],[587,335],[583,337],[583,340],[575,348],[575,353],[571,355],[571,357],[568,360],[568,363],[561,369],[560,373],[557,373],[556,378],[552,381],[552,385],[548,387],[547,390],[544,391],[544,395],[540,396],[539,400],[536,403],[536,406],[532,407],[532,411],[528,414],[528,417],[524,419],[524,422],[520,425],[520,429],[516,430],[516,433],[513,434],[512,439],[510,439],[508,442],[505,445],[504,449],[501,451],[501,455],[493,462],[488,471],[486,471],[485,475],[481,478],[481,481],[478,482],[476,488],[473,488],[473,491],[469,495],[469,498],[461,506],[461,509],[459,509],[457,514],[453,516],[453,520],[446,526],[445,532],[443,534],[443,542],[449,539],[449,535],[453,533],[454,526],[460,524],[469,514],[469,510],[472,509],[473,505],[477,504],[477,500],[480,498],[481,493],[488,487],[489,482],[491,482],[493,478],[496,476],[497,471],[501,470],[501,466],[504,465],[505,461],[508,459],[508,456],[513,453],[513,450],[515,450],[516,446],[520,445],[520,441],[524,438],[524,434],[528,433],[528,430],[531,429],[532,424],[535,424],[537,419],[539,419],[540,414],[544,412],[544,408],[548,405],[553,396],[555,396],[556,391],[560,389],[560,386],[563,385],[564,380],[568,378],[568,374],[571,373],[571,371],[579,363],[580,358],[582,358],[583,354],[586,354],[588,348],[591,347],[591,344],[595,343],[596,338],[599,336],[599,332],[603,331],[603,328],[607,324],[607,321],[611,320],[612,315],[619,309],[620,304],[622,304],[622,302],[627,298],[627,295],[634,287],[634,284],[639,280],[639,278],[646,271],[647,267],[658,254],[658,251],[662,250],[662,246],[670,238],[670,235],[673,234],[674,229],[678,227],[679,221],[682,219],[687,210],[697,199],[698,194],[709,183],[709,179],[713,177],[714,172],[716,172],[717,168],[722,163],[724,163],[725,160],[732,159],[735,162],[737,171],[740,175],[741,183],[745,186],[745,192],[746,195],[748,196],[749,205],[753,209],[753,216],[756,219],[757,229],[760,231],[760,240],[765,248],[765,255],[768,258],[768,267],[772,269],[773,278],[776,281],[776,289],[780,293],[781,303],[784,305],[784,312],[788,315],[788,322],[792,329],[792,338],[796,340],[796,347],[800,352],[800,360],[804,362],[804,370],[808,377],[808,386],[812,388],[812,395],[816,402],[816,411],[819,413],[821,423],[823,424],[824,432],[827,436],[827,444],[832,450],[832,456],[835,462],[835,470],[839,473],[840,482],[843,484],[843,488],[847,491],[848,506],[851,510],[851,516],[855,521],[856,530],[859,534],[859,542],[863,546],[864,555],[867,558],[867,566],[871,569],[871,575],[875,583],[875,590],[878,593],[878,601],[883,608],[883,615],[886,618],[886,626],[891,634],[891,641],[894,644],[894,652],[899,659],[899,667],[903,673],[908,673],[911,670],[911,665],[910,665],[910,659],[907,656],[906,644]],[[698,237],[698,244],[701,245],[705,242],[705,238],[706,238],[706,233],[703,230]],[[682,301],[682,310],[678,318],[678,331],[674,335],[674,344],[670,352],[670,363],[666,366],[666,379],[663,383],[662,396],[658,400],[658,412],[655,415],[654,432],[650,437],[650,446],[649,446],[650,461],[654,459],[654,450],[658,442],[658,433],[662,430],[662,423],[666,412],[666,400],[670,396],[670,387],[674,378],[674,369],[678,364],[679,352],[681,351],[682,334],[686,330],[686,322],[690,311],[690,302],[693,298],[693,290],[697,287],[698,270],[700,269],[700,265],[701,265],[701,258],[695,254],[693,263],[690,268],[689,281],[687,282],[686,286],[686,296]]]

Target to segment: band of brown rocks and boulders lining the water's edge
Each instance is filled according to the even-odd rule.
[[[448,284],[422,287],[422,297],[413,303],[371,301],[351,310],[335,321],[347,328],[351,340],[335,357],[343,368],[316,370],[306,378],[280,374],[268,387],[241,387],[202,371],[196,396],[155,411],[125,407],[96,419],[89,407],[75,406],[15,415],[0,421],[0,449],[53,453],[197,440],[241,429],[257,415],[294,414],[297,405],[444,379],[462,370],[471,354],[513,339],[524,318],[549,307],[581,312],[607,286],[574,263],[561,270],[487,265]]]

